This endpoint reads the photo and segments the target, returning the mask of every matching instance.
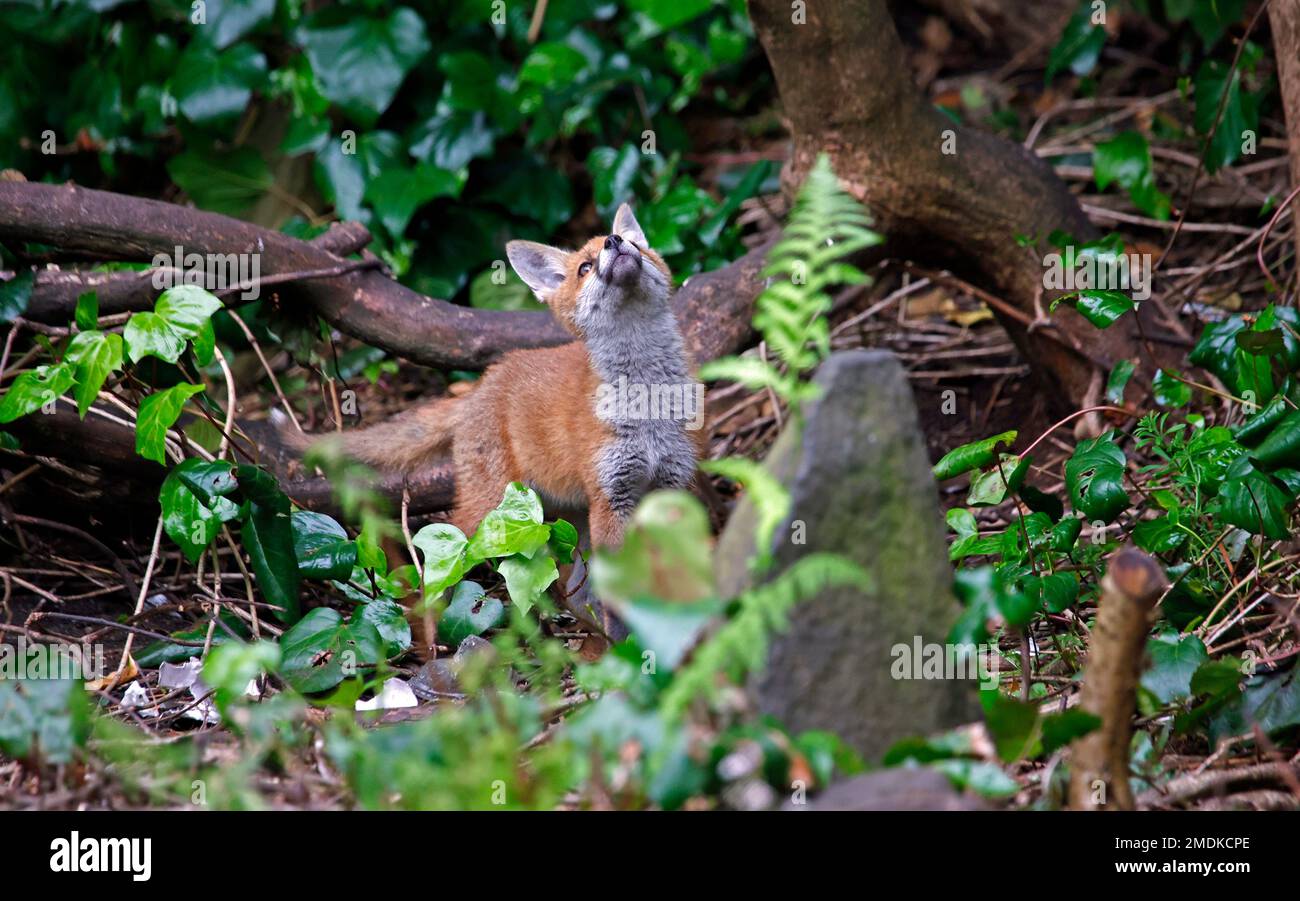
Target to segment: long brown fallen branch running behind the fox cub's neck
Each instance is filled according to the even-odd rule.
[[[259,254],[264,276],[332,270],[346,261],[326,247],[190,207],[73,185],[0,182],[0,241],[36,242],[62,251],[124,261],[156,254]],[[351,241],[355,241],[355,235]],[[346,244],[350,246],[350,244]],[[762,289],[766,248],[692,278],[673,298],[686,346],[697,360],[740,350],[751,337],[750,307]],[[146,303],[146,280],[100,282],[101,312]],[[95,286],[42,277],[29,319],[66,321],[77,295]],[[426,298],[374,269],[285,283],[276,294],[315,309],[330,325],[368,345],[425,365],[481,369],[503,352],[571,339],[549,312],[460,307]]]

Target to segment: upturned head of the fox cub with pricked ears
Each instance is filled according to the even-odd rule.
[[[506,256],[537,299],[578,338],[597,335],[620,319],[667,309],[672,273],[646,244],[628,204],[619,207],[610,234],[576,251],[511,241]]]

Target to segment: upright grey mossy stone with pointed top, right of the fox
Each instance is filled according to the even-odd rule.
[[[975,683],[898,680],[894,645],[942,644],[961,610],[952,594],[939,497],[907,377],[885,351],[833,354],[816,374],[801,437],[786,429],[767,458],[790,490],[770,573],[818,551],[854,560],[867,592],[842,588],[800,603],[754,677],[758,707],[792,732],[828,729],[867,759],[893,742],[978,719]],[[755,511],[742,498],[718,542],[723,597],[753,584]],[[796,543],[802,530],[805,543]]]

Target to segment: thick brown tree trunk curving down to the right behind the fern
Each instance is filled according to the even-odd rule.
[[[1131,317],[1098,332],[1063,304],[1043,319],[1053,299],[1046,235],[1087,241],[1096,230],[1036,156],[954,124],[922,96],[884,0],[801,5],[806,23],[792,21],[785,0],[749,9],[790,122],[788,186],[828,152],[890,242],[922,260],[957,260],[1005,299],[994,313],[1058,400],[1083,403],[1100,369],[1136,355]],[[1036,242],[1022,246],[1023,235]]]

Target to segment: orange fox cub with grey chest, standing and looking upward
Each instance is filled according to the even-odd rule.
[[[576,251],[512,241],[506,255],[577,341],[511,351],[469,394],[347,433],[343,451],[411,471],[450,449],[451,521],[465,534],[519,481],[549,510],[585,507],[593,545],[619,545],[642,495],[692,485],[705,437],[672,276],[627,204],[610,234]]]

